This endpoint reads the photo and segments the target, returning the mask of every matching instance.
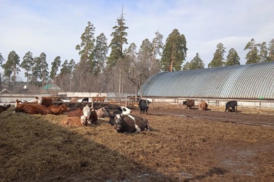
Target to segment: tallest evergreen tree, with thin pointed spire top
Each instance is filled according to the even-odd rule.
[[[125,26],[123,8],[122,13],[120,17],[117,19],[116,23],[117,25],[112,27],[114,31],[111,33],[111,36],[113,36],[113,38],[109,45],[109,47],[111,48],[111,53],[107,61],[108,67],[113,67],[119,58],[123,58],[123,44],[127,44],[126,29],[128,29],[128,27]]]

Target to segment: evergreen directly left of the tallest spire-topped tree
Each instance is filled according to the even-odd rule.
[[[97,75],[98,73],[102,73],[102,71],[105,68],[107,54],[109,51],[107,41],[108,41],[108,39],[104,33],[101,33],[99,36],[96,37],[96,45],[93,50],[93,61],[95,64],[94,74],[95,75]]]

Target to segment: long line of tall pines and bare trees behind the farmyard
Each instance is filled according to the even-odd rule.
[[[144,39],[137,50],[134,42],[124,48],[127,42],[128,27],[125,25],[123,11],[112,27],[112,40],[107,43],[104,33],[97,37],[95,27],[89,21],[81,35],[76,51],[80,61],[64,60],[60,56],[51,63],[51,70],[46,60],[46,54],[33,57],[27,52],[20,63],[20,57],[11,51],[7,61],[0,53],[0,66],[4,74],[0,74],[0,88],[6,85],[9,89],[17,84],[16,75],[24,69],[27,87],[44,86],[49,81],[57,84],[66,92],[98,92],[104,88],[107,92],[137,93],[152,75],[161,71],[180,71],[204,68],[199,53],[190,61],[184,61],[187,55],[186,37],[178,29],[174,29],[163,44],[163,35],[158,31],[152,40]],[[108,52],[111,50],[109,56]],[[240,58],[235,49],[231,48],[226,59],[224,44],[218,43],[216,52],[208,67],[239,65]],[[256,43],[252,38],[244,48],[248,51],[246,64],[274,61],[274,38],[268,43]]]

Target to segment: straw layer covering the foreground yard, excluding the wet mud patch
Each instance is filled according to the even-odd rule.
[[[3,180],[188,181],[235,176],[250,180],[221,167],[213,159],[219,155],[217,149],[273,144],[274,140],[273,129],[195,118],[142,115],[151,131],[126,134],[117,133],[107,120],[88,127],[62,126],[65,115],[13,110],[0,114]],[[258,158],[265,162],[269,156]],[[260,167],[265,170],[258,174],[260,179],[273,179],[272,164]]]

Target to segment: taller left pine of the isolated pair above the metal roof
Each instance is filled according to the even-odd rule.
[[[214,68],[214,67],[222,67],[225,66],[224,62],[224,53],[225,53],[225,47],[224,44],[218,43],[217,44],[217,50],[213,54],[213,59],[209,63],[208,67],[209,68]]]

